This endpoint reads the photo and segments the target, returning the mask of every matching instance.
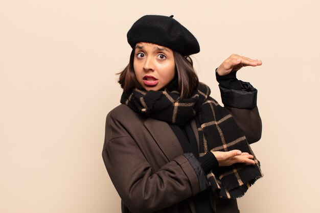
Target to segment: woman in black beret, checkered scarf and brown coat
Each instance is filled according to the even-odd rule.
[[[216,69],[221,107],[192,67],[196,38],[173,16],[143,16],[127,38],[102,153],[122,212],[239,212],[236,198],[262,177],[248,146],[261,120],[257,90],[236,71],[262,62],[232,55]]]

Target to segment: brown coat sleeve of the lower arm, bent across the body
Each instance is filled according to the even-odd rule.
[[[193,155],[180,155],[153,171],[136,141],[116,120],[108,114],[102,156],[113,185],[132,212],[163,209],[209,186],[199,184],[205,176],[197,171],[201,167]]]

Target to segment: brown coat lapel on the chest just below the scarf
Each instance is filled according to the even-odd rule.
[[[178,138],[166,122],[148,117],[144,125],[169,161],[184,153]]]

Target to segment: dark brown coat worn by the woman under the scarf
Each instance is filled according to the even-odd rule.
[[[261,120],[257,108],[227,108],[249,143],[260,139]],[[197,142],[198,132],[191,121]],[[145,118],[128,106],[111,110],[106,119],[103,160],[122,199],[122,212],[177,213],[177,203],[199,193],[199,181],[178,139],[166,122]],[[218,201],[217,211],[228,201]],[[233,212],[235,201],[230,201]],[[219,207],[220,205],[220,207]],[[226,208],[226,207],[222,207]],[[230,211],[228,211],[230,212]],[[181,212],[179,212],[181,213]]]

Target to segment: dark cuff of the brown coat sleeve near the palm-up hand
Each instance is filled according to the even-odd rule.
[[[200,162],[192,153],[185,153],[184,156],[188,159],[188,161],[191,164],[191,167],[193,168],[198,177],[199,192],[204,191],[210,186],[210,184],[207,180],[207,177],[205,176],[204,171],[202,170]]]

